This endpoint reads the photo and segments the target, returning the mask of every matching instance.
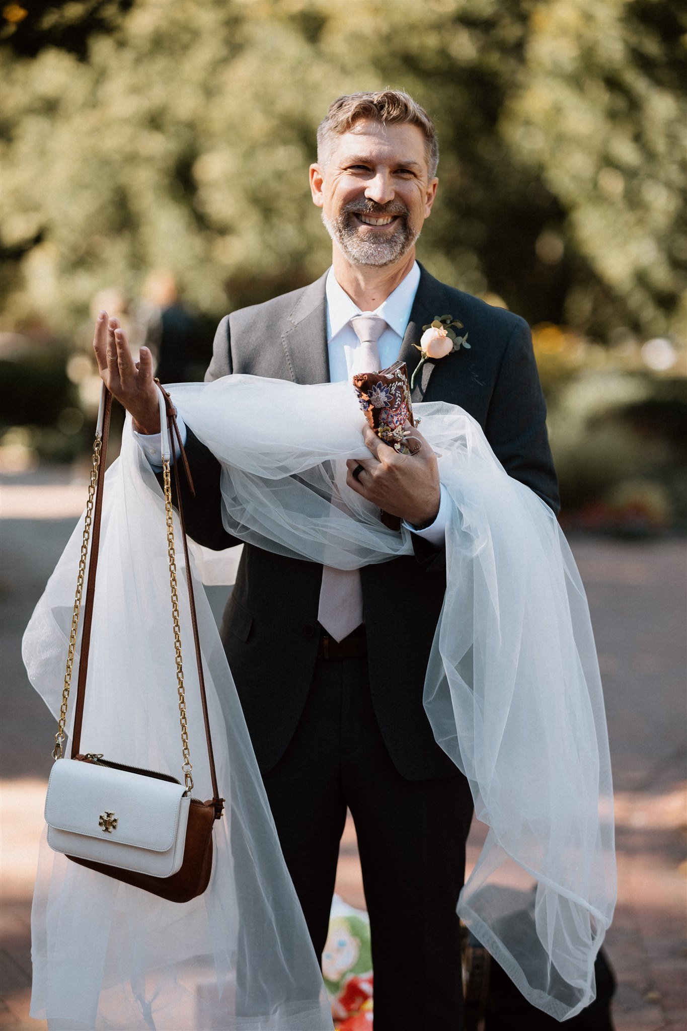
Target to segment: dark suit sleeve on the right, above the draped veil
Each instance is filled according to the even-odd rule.
[[[504,352],[489,402],[486,438],[509,476],[558,512],[558,481],[546,432],[546,402],[529,327],[518,319]]]

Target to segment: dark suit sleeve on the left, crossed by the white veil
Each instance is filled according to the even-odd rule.
[[[205,373],[205,381],[210,383],[231,373],[229,315],[225,315],[214,335],[212,361]],[[238,537],[227,533],[221,522],[221,490],[219,488],[221,467],[216,458],[205,444],[200,442],[191,429],[186,433],[184,451],[196,491],[194,497],[185,476],[181,475],[181,500],[188,536],[193,537],[199,544],[204,544],[205,547],[211,547],[217,552],[241,544],[242,541]]]

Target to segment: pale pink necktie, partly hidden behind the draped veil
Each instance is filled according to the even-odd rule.
[[[360,345],[355,352],[352,372],[377,372],[377,340],[386,329],[381,315],[354,315],[350,321]],[[341,641],[363,623],[363,588],[358,569],[334,569],[322,566],[317,619],[328,634]]]

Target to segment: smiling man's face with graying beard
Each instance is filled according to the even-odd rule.
[[[310,166],[313,202],[353,265],[391,265],[420,235],[437,192],[425,140],[414,125],[356,122],[334,137],[324,165]]]

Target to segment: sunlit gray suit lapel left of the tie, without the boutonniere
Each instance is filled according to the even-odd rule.
[[[306,287],[288,314],[281,334],[291,379],[297,384],[325,384],[330,380],[327,346],[327,272]]]

